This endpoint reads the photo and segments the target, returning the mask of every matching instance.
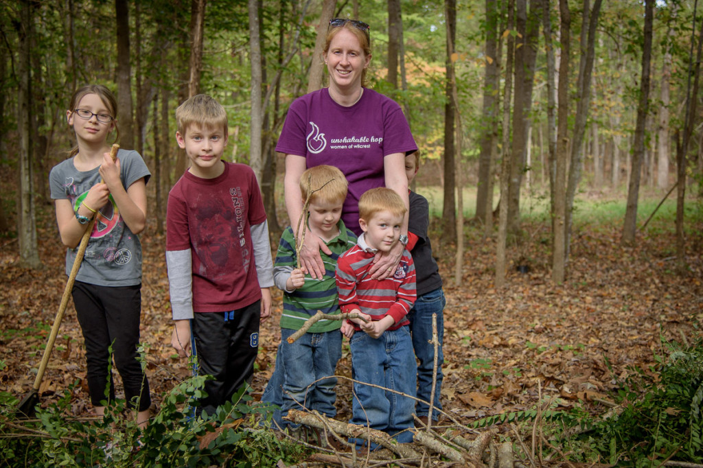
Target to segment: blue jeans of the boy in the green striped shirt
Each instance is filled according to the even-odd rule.
[[[280,417],[288,410],[316,410],[327,417],[335,417],[335,375],[337,361],[342,358],[342,333],[306,333],[290,344],[288,337],[296,330],[282,328],[276,355],[276,368],[266,385],[262,401],[280,406],[273,419],[280,427],[286,423]]]

